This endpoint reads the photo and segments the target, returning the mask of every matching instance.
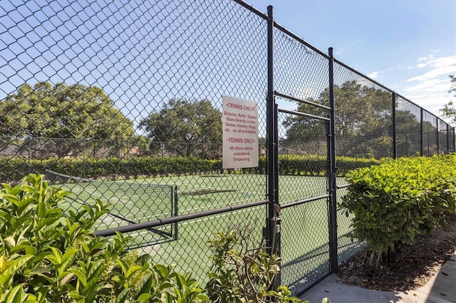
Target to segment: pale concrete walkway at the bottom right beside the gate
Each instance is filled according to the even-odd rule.
[[[331,303],[456,303],[456,251],[440,271],[418,289],[408,292],[383,292],[347,285],[336,275],[330,275],[305,292],[301,299],[321,303],[327,297]]]

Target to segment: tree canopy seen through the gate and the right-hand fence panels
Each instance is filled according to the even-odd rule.
[[[454,78],[453,78],[454,79]],[[456,80],[454,80],[456,84]],[[456,87],[453,89],[456,91]],[[393,156],[393,117],[391,93],[366,87],[355,81],[334,85],[336,149],[339,155]],[[329,104],[328,89],[317,99],[309,99],[321,105]],[[396,105],[397,106],[397,105]],[[328,117],[328,112],[318,107],[301,103],[299,112]],[[456,110],[455,110],[456,112]],[[420,152],[420,118],[413,112],[396,109],[396,148],[399,156],[410,156]],[[456,114],[455,114],[456,117]],[[289,116],[283,122],[286,135],[281,142],[293,147],[312,147],[325,139],[326,125],[318,119]],[[436,150],[437,128],[423,122],[424,145]]]

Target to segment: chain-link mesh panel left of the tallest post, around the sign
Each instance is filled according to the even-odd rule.
[[[263,18],[232,1],[2,1],[0,24],[1,181],[46,174],[73,191],[68,208],[101,198],[113,206],[100,229],[264,200],[264,170],[221,164],[222,96],[257,102],[265,136]],[[177,188],[178,213],[172,191],[143,201],[146,184]],[[248,222],[261,239],[265,213],[129,235],[205,279],[214,233]]]

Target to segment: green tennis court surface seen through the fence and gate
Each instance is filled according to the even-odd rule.
[[[279,200],[285,205],[323,196],[326,194],[326,180],[326,177],[322,176],[279,176]],[[175,176],[129,180],[128,183],[135,187],[150,185],[151,188],[158,188],[158,193],[147,198],[144,194],[110,190],[110,186],[103,191],[83,184],[66,184],[62,187],[73,192],[74,202],[71,206],[63,207],[78,208],[81,203],[93,203],[95,198],[111,203],[111,213],[114,216],[105,216],[100,220],[97,230],[103,230],[175,216],[176,206],[178,214],[182,215],[266,200],[266,176],[256,174]],[[162,192],[162,188],[165,188],[167,193]],[[177,190],[177,199],[172,196],[173,190]],[[214,233],[226,232],[233,226],[238,226],[249,229],[254,238],[261,240],[265,223],[264,205],[186,220],[155,230],[138,230],[128,235],[133,238],[133,247],[139,247],[142,252],[153,255],[155,262],[174,263],[178,270],[191,270],[204,278],[211,264],[208,241],[214,238]],[[177,240],[173,233],[176,227]],[[348,225],[346,229],[348,231]],[[344,233],[339,231],[339,234]],[[306,270],[326,266],[329,260],[328,250],[326,198],[281,211],[284,283],[296,282]]]

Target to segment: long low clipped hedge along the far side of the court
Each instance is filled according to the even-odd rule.
[[[375,159],[355,159],[346,156],[338,161],[338,175],[344,176],[349,169],[378,164]],[[279,156],[279,174],[323,176],[326,174],[326,158],[286,154]],[[184,156],[145,156],[133,159],[65,159],[46,160],[24,158],[0,158],[0,181],[19,181],[24,176],[44,174],[47,169],[62,174],[84,178],[130,179],[142,176],[178,176],[185,174],[266,174],[266,157],[259,158],[259,166],[251,169],[224,170],[222,159],[208,160]]]

